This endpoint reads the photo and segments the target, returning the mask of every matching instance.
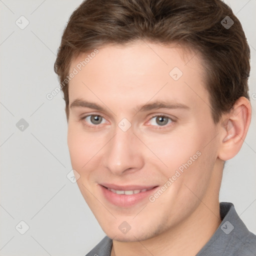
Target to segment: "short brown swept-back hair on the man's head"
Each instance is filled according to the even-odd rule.
[[[222,23],[227,19],[234,22],[229,28]],[[63,84],[79,53],[139,39],[176,42],[200,53],[214,123],[239,97],[249,99],[250,49],[241,23],[221,0],[85,0],[63,31],[54,71]],[[68,82],[61,89],[68,119]]]

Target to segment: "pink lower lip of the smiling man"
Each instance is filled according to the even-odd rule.
[[[158,187],[156,186],[150,190],[146,190],[144,192],[139,192],[136,194],[116,194],[102,185],[99,186],[101,187],[104,197],[110,203],[121,207],[130,207],[142,201],[143,199],[148,198]]]

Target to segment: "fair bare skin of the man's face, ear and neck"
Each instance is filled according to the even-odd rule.
[[[215,125],[198,54],[144,41],[98,50],[68,88],[69,106],[79,98],[104,108],[69,107],[67,142],[78,187],[113,239],[111,255],[195,255],[221,222],[223,162],[242,145],[250,103],[240,97]],[[72,59],[70,70],[86,54]],[[176,81],[169,75],[175,66],[183,73]],[[188,108],[139,111],[155,100]],[[102,116],[101,123],[82,118],[91,114]],[[173,121],[160,125],[155,114]],[[118,127],[122,118],[131,123],[125,132]],[[102,182],[161,186],[197,151],[200,156],[154,202],[120,207],[102,195]],[[125,234],[118,229],[123,221],[131,227]]]

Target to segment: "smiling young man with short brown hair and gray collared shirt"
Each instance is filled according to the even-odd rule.
[[[86,0],[55,62],[79,189],[105,236],[87,255],[256,255],[219,203],[251,117],[249,47],[220,0]]]

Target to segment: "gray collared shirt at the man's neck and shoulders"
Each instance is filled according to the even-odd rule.
[[[244,225],[230,202],[221,202],[219,227],[195,256],[256,256],[256,235]],[[112,240],[105,236],[85,256],[110,256]]]

